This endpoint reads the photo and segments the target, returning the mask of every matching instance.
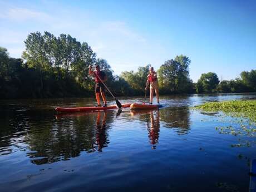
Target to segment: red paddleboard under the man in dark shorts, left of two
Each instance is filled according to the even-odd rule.
[[[122,104],[122,107],[130,107],[131,104]],[[100,111],[100,110],[108,110],[108,109],[116,109],[116,105],[110,105],[107,107],[56,107],[55,111],[57,112],[81,112],[81,111]]]

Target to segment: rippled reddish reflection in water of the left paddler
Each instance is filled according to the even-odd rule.
[[[103,117],[101,120],[101,113],[103,113]],[[98,112],[97,115],[97,121],[96,121],[96,145],[97,145],[97,150],[99,152],[102,152],[102,148],[106,147],[109,142],[107,141],[107,136],[106,136],[106,111]]]

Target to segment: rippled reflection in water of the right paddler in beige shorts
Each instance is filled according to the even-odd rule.
[[[149,139],[152,144],[152,149],[156,149],[156,144],[159,140],[159,132],[160,132],[160,120],[159,120],[159,110],[150,111],[150,126],[147,127],[149,130]]]

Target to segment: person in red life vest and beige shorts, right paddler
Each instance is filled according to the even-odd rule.
[[[150,83],[150,104],[152,104],[153,102],[154,91],[156,93],[157,104],[159,104],[158,81],[156,72],[154,71],[154,67],[149,68],[149,75],[147,75],[147,81],[149,81]],[[147,90],[147,86],[145,90]]]

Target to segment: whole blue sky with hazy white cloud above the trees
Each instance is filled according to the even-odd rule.
[[[256,70],[255,1],[1,1],[0,46],[21,57],[30,32],[87,42],[115,74],[186,55],[190,77]]]

